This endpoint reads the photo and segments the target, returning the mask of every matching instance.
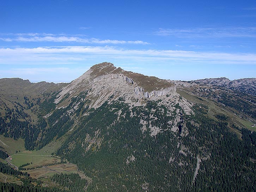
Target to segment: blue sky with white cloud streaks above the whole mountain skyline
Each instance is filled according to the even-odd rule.
[[[256,1],[1,1],[0,78],[92,65],[171,80],[256,78]]]

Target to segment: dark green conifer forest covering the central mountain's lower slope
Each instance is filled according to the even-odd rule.
[[[150,101],[132,111],[120,101],[105,103],[80,121],[57,155],[94,178],[89,191],[255,191],[255,132],[241,129],[239,140],[225,120],[197,111],[182,115],[179,134],[162,109]],[[151,125],[162,131],[143,132],[141,118],[155,119]]]

